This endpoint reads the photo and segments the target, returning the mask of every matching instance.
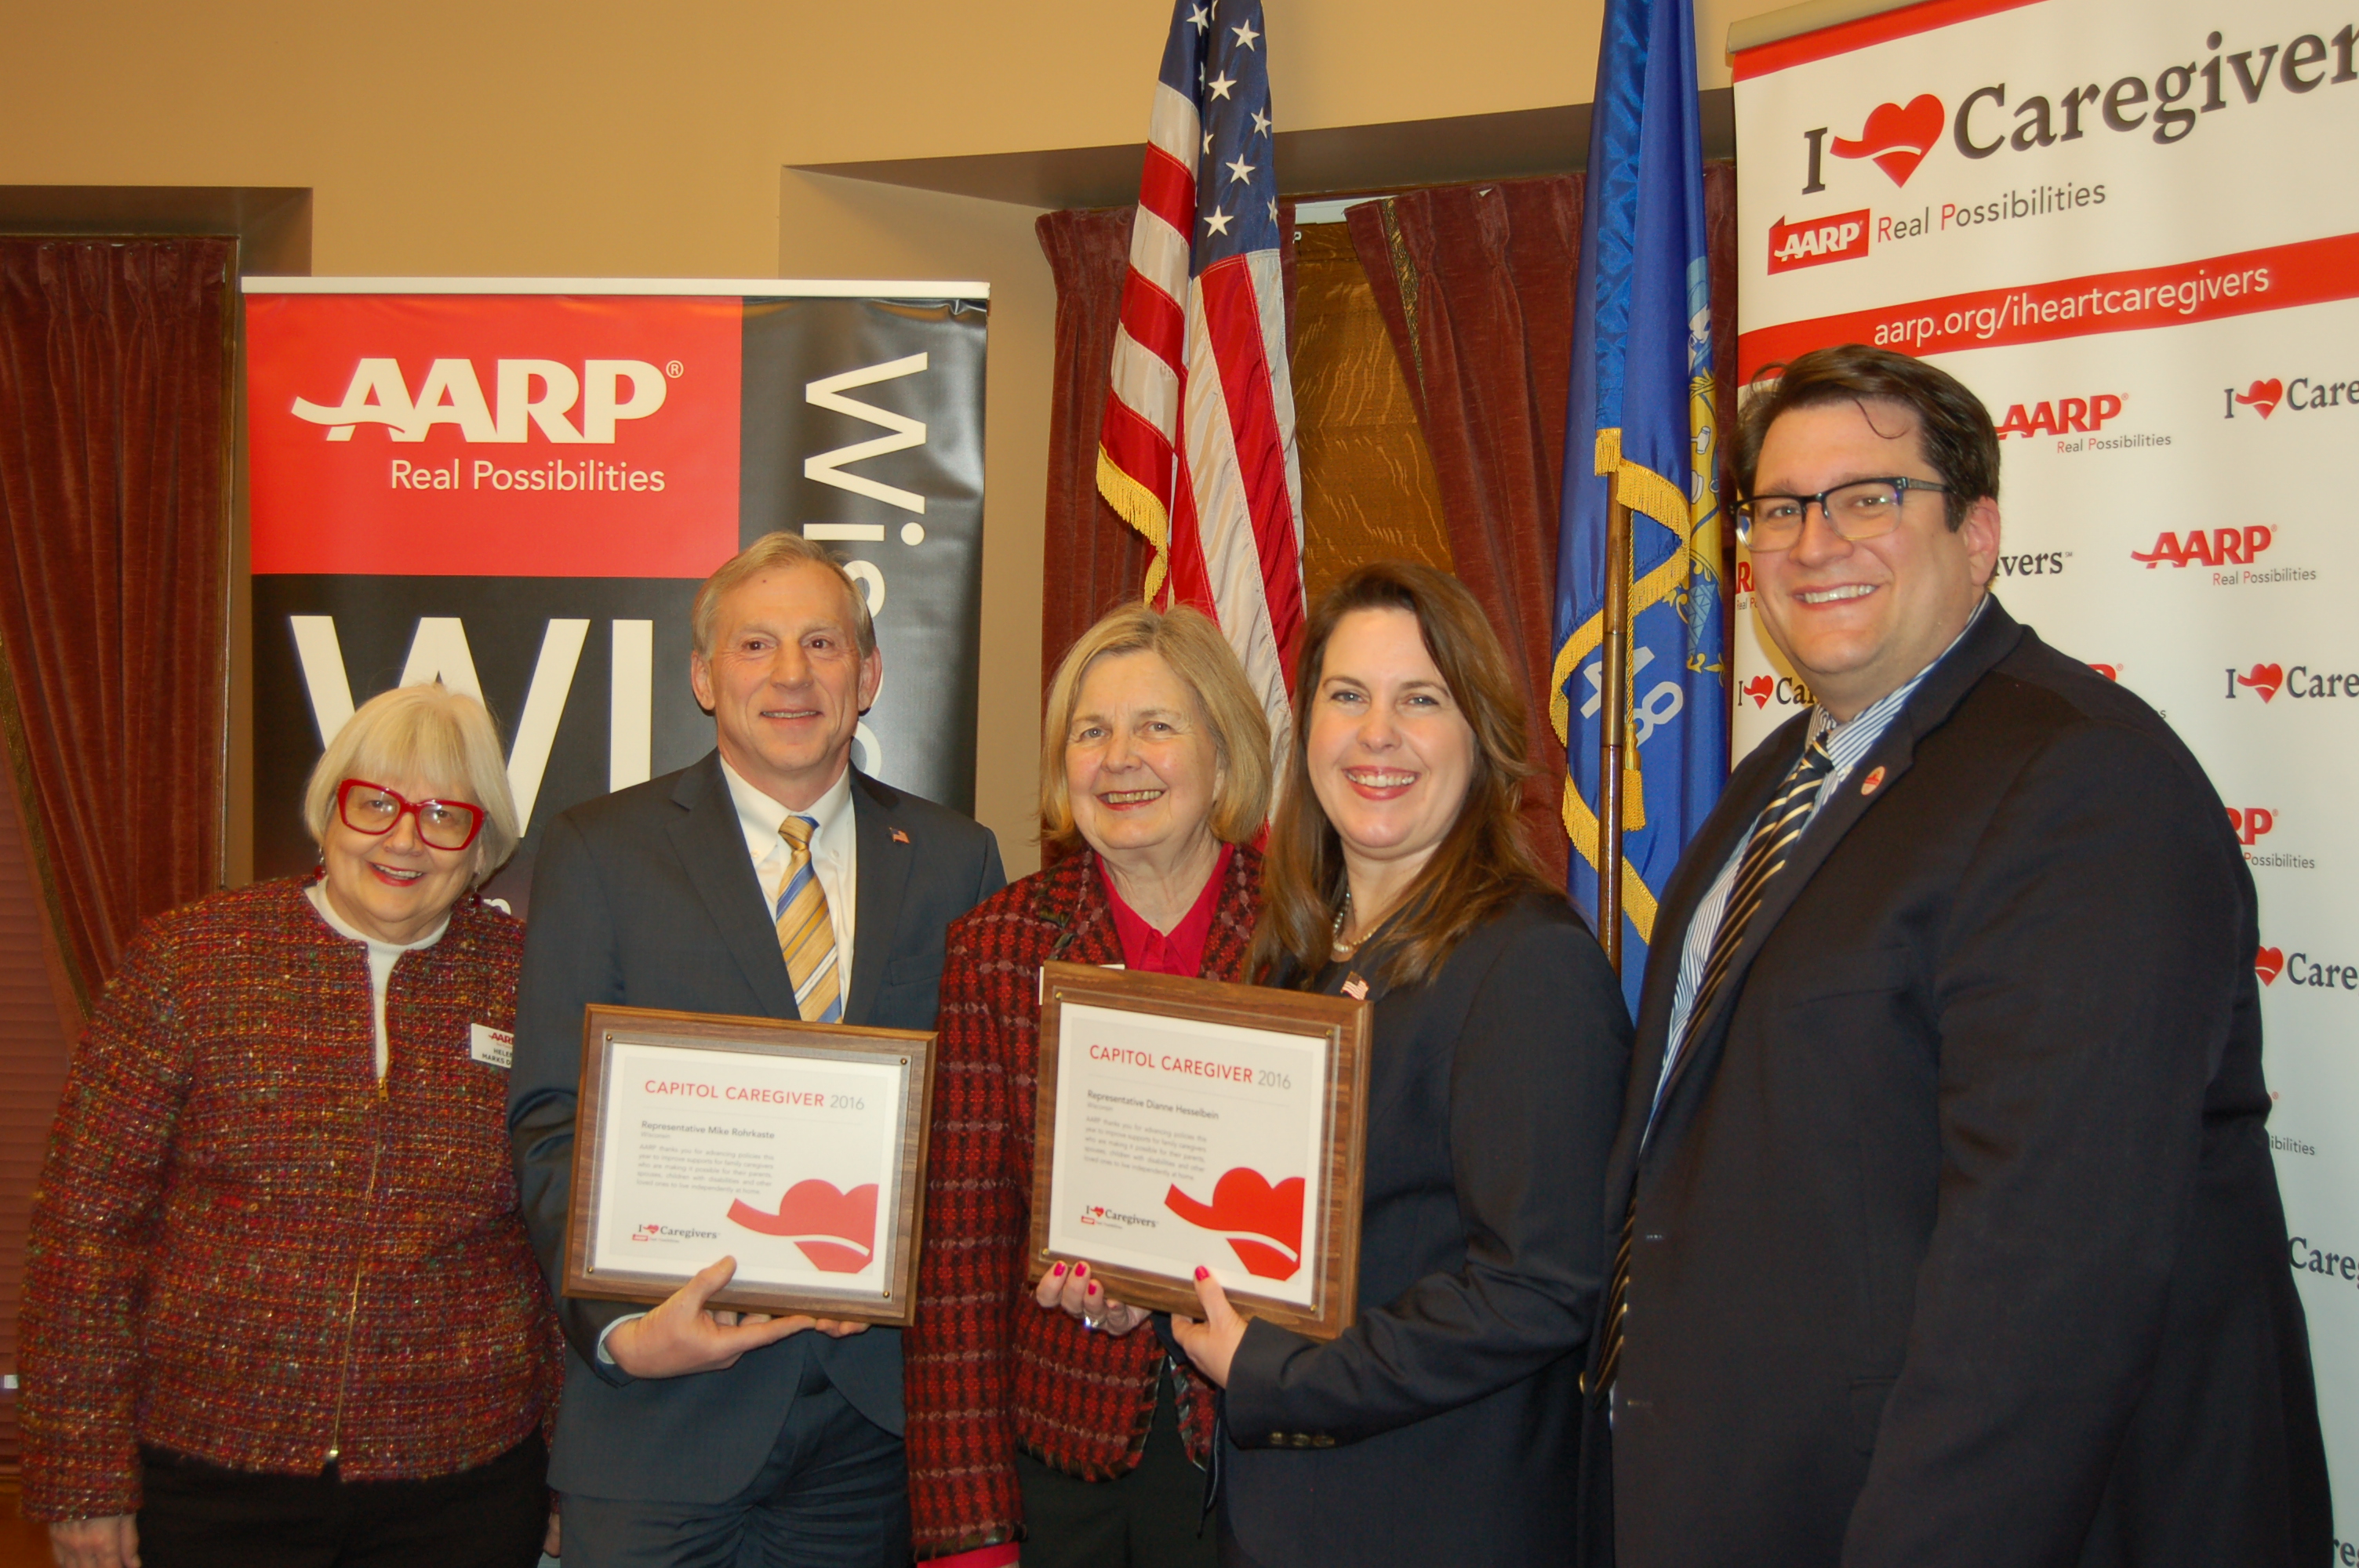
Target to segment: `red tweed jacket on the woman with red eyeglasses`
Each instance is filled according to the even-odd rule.
[[[559,1389],[517,1214],[507,1073],[524,924],[462,898],[403,953],[375,1070],[368,955],[302,879],[151,920],[66,1078],[33,1193],[24,1511],[139,1507],[139,1443],[248,1471],[441,1476]]]

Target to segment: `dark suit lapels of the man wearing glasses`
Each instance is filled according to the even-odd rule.
[[[1663,1085],[1665,1111],[1670,1108],[1670,1096],[1680,1089],[1682,1080],[1706,1073],[1706,1066],[1701,1066],[1703,1061],[1720,1059],[1729,1014],[1736,1007],[1736,997],[1743,995],[1753,960],[1760,955],[1762,943],[1769,941],[1776,922],[1783,920],[1786,910],[1790,910],[1795,898],[1802,896],[1802,889],[1809,887],[1809,879],[1842,842],[1842,835],[1852,830],[1852,823],[1866,816],[1871,804],[1892,795],[1892,788],[1916,762],[1918,740],[1949,719],[1958,703],[1965,700],[1965,693],[1974,689],[1974,681],[1989,674],[1991,665],[2003,660],[2015,644],[2022,641],[2022,625],[2017,625],[2017,620],[2008,615],[1996,599],[1991,599],[1991,606],[1982,613],[1982,620],[1974,622],[1972,632],[1967,632],[1965,641],[1958,644],[1956,653],[1925,677],[1925,684],[1911,693],[1908,703],[1904,703],[1897,714],[1892,714],[1892,724],[1875,740],[1875,745],[1868,747],[1868,755],[1842,776],[1835,795],[1819,804],[1819,813],[1786,856],[1786,863],[1762,884],[1760,908],[1753,913],[1750,924],[1746,924],[1746,936],[1739,943],[1736,955],[1729,960],[1729,974],[1720,983],[1720,995],[1713,997],[1706,1016],[1694,1021],[1696,1045],[1687,1052],[1687,1056],[1673,1063],[1670,1082]],[[1807,724],[1807,714],[1802,722]],[[1783,736],[1783,731],[1779,731],[1779,736]],[[1795,747],[1786,747],[1783,766],[1793,766],[1793,755]],[[1875,792],[1868,795],[1861,790],[1861,783],[1878,769],[1882,771],[1882,778],[1878,780]],[[1783,778],[1783,771],[1774,773],[1765,790],[1776,788],[1776,778]],[[1767,799],[1767,792],[1762,799]],[[1760,802],[1755,802],[1753,809],[1760,811]],[[1750,823],[1750,816],[1746,821]]]

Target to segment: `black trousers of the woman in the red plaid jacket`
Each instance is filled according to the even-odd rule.
[[[1215,1568],[1203,1516],[1203,1471],[1180,1443],[1170,1377],[1156,1377],[1156,1415],[1139,1467],[1083,1481],[1017,1450],[1024,1488],[1024,1568]]]

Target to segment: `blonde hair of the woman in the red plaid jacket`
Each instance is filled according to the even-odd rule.
[[[1064,750],[1080,705],[1080,677],[1111,653],[1154,653],[1180,677],[1220,757],[1213,837],[1224,844],[1253,839],[1269,818],[1269,714],[1253,696],[1246,667],[1236,663],[1220,627],[1184,604],[1170,611],[1125,604],[1080,634],[1047,684],[1047,712],[1040,717],[1040,842],[1057,849],[1080,844],[1064,783]]]

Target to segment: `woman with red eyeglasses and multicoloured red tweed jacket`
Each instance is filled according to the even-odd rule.
[[[73,1054],[19,1325],[24,1511],[71,1568],[524,1566],[552,1530],[491,714],[387,691],[304,821],[318,872],[151,920]]]

